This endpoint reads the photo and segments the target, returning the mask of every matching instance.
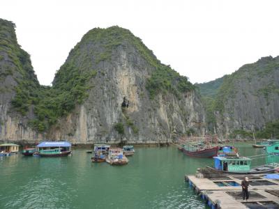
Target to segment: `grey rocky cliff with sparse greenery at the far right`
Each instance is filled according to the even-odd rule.
[[[264,129],[279,118],[279,57],[264,57],[225,76],[212,98],[207,110],[215,117],[208,122],[219,134]]]

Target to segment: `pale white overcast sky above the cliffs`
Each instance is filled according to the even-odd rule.
[[[113,25],[129,29],[190,82],[208,82],[279,55],[279,1],[15,1],[0,0],[0,18],[17,25],[40,84],[84,33]]]

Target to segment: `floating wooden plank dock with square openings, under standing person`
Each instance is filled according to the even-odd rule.
[[[227,175],[217,178],[200,178],[185,176],[199,196],[212,209],[217,208],[278,208],[279,209],[279,180],[264,178],[266,174]],[[249,199],[243,201],[241,181],[248,176],[250,181]],[[199,178],[198,178],[199,177]]]

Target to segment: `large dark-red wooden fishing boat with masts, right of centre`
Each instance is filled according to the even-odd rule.
[[[217,156],[218,146],[206,146],[202,143],[199,144],[186,144],[183,147],[183,153],[191,157],[206,157],[211,158]]]

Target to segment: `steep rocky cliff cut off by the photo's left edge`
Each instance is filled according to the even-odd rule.
[[[29,54],[17,44],[14,27],[12,22],[0,19],[0,140],[35,140],[39,136],[27,126],[27,116],[11,106],[20,82],[31,81],[34,88],[39,86]]]

